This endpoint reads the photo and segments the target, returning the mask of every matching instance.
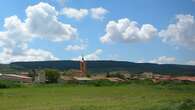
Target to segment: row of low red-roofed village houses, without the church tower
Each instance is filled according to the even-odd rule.
[[[86,76],[66,76],[61,75],[59,82],[68,82],[68,81],[94,81],[94,80],[108,80],[111,82],[125,82],[129,80],[152,80],[154,83],[160,81],[190,81],[195,82],[195,77],[193,76],[171,76],[171,75],[159,75],[151,72],[144,72],[142,74],[123,74],[120,73],[123,77],[118,76],[106,76],[103,75],[94,75],[90,77]],[[45,83],[47,81],[45,74],[38,73],[34,78],[29,76],[28,72],[22,72],[20,74],[1,74],[0,80],[12,80],[23,83]]]

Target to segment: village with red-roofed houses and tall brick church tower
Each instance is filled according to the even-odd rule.
[[[21,72],[20,74],[2,74],[0,80],[17,81],[21,83],[46,83],[47,76],[43,71],[34,70],[33,74],[29,72]],[[160,75],[152,72],[143,72],[139,74],[130,74],[128,71],[108,72],[104,74],[87,74],[87,64],[84,58],[80,61],[80,70],[70,70],[68,74],[60,73],[57,78],[58,83],[65,82],[87,82],[107,80],[110,82],[127,82],[129,80],[151,80],[154,83],[160,81],[189,81],[195,82],[195,77],[192,76],[171,76]]]

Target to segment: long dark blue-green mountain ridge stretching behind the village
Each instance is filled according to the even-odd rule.
[[[86,63],[87,70],[95,73],[128,71],[130,73],[154,72],[172,75],[195,75],[195,66],[190,65],[133,63],[127,61],[87,61]],[[15,73],[45,68],[53,68],[61,71],[79,69],[79,61],[14,62],[11,64],[1,64],[0,72]]]

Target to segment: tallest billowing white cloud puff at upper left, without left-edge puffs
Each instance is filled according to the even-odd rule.
[[[39,3],[26,9],[25,20],[29,31],[51,41],[64,41],[77,37],[77,29],[58,21],[58,12],[47,3]]]

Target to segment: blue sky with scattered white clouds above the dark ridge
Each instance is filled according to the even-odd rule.
[[[195,65],[195,0],[2,0],[0,63]]]

